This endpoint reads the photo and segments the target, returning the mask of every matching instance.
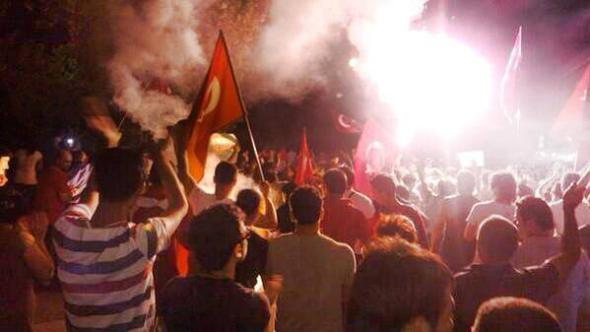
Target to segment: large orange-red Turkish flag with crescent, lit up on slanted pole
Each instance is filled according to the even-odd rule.
[[[190,117],[192,128],[187,139],[186,156],[190,175],[203,178],[211,135],[242,118],[244,110],[234,77],[223,33],[215,44],[211,65]]]

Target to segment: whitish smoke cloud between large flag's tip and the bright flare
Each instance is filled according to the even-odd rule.
[[[269,22],[253,52],[265,74],[268,94],[301,97],[326,83],[330,43],[346,31],[359,58],[375,42],[395,44],[421,14],[426,0],[274,0]],[[384,17],[386,19],[384,20]],[[387,22],[386,26],[383,22]],[[375,29],[385,28],[375,40]],[[394,61],[395,59],[392,59]]]

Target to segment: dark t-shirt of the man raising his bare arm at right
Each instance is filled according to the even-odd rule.
[[[470,331],[479,306],[494,297],[524,297],[544,304],[559,286],[553,264],[522,270],[510,264],[473,264],[455,275],[455,331]]]

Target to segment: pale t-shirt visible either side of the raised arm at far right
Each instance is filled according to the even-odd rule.
[[[540,265],[560,252],[559,237],[530,237],[518,247],[512,259],[516,268]],[[555,313],[564,332],[575,332],[578,309],[590,289],[590,262],[582,252],[578,263],[549,301],[547,307]]]

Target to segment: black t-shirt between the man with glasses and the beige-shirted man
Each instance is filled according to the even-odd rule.
[[[236,282],[244,287],[254,288],[256,277],[264,273],[266,268],[266,256],[268,254],[268,240],[250,232],[248,239],[248,253],[246,259],[236,266]]]

